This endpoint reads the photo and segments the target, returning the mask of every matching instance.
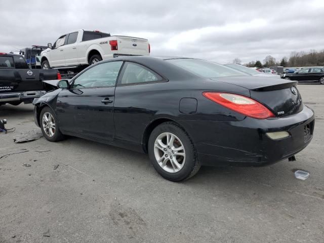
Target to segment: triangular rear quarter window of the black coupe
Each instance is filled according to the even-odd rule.
[[[127,62],[124,68],[123,77],[121,77],[121,84],[139,84],[161,80],[163,80],[163,78],[154,71],[142,65]]]

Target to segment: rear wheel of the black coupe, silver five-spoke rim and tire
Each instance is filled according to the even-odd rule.
[[[189,135],[173,122],[163,123],[152,131],[148,141],[148,154],[157,173],[170,181],[189,179],[200,169]]]

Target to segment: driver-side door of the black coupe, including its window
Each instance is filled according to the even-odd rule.
[[[91,66],[76,76],[57,98],[62,131],[112,141],[115,84],[123,61]]]

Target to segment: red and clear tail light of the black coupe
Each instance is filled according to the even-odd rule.
[[[246,116],[257,119],[274,117],[274,114],[267,107],[246,96],[219,92],[204,92],[203,95],[228,109]]]

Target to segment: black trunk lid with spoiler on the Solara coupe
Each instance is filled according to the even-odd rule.
[[[260,77],[218,77],[219,82],[229,83],[250,90],[250,96],[269,108],[275,116],[287,116],[303,109],[297,82],[285,79]]]

